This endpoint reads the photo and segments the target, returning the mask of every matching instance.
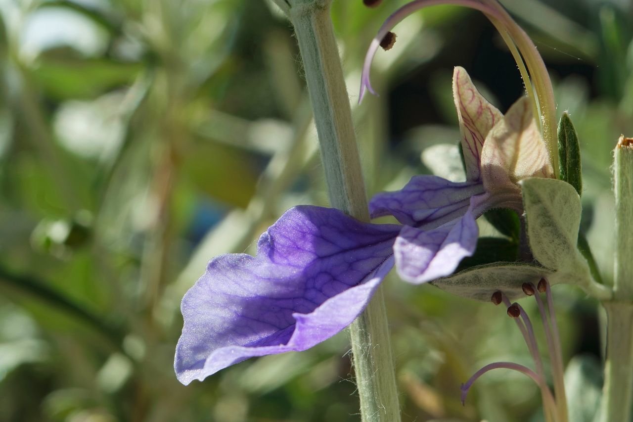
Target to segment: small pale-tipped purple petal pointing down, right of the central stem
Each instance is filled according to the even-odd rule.
[[[472,208],[477,201],[473,198],[471,207],[461,219],[437,229],[423,231],[403,227],[394,244],[396,269],[402,279],[421,284],[448,276],[461,259],[475,252],[479,229]]]

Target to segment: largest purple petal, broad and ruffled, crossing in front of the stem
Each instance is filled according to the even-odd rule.
[[[180,382],[248,357],[305,350],[341,331],[391,269],[400,229],[301,206],[261,235],[255,257],[211,260],[182,299],[174,361]]]

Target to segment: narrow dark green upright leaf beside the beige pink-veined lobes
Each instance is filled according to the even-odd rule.
[[[568,182],[582,195],[582,163],[580,162],[580,144],[572,120],[563,113],[558,124],[558,162],[560,179]]]

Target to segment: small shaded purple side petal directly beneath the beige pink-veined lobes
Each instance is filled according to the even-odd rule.
[[[468,210],[471,196],[482,193],[484,186],[480,182],[413,176],[403,189],[375,195],[369,208],[372,218],[393,215],[407,226],[434,229],[460,218]]]

